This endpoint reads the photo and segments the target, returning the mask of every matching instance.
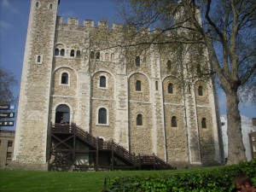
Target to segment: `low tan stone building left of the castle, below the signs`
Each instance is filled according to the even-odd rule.
[[[9,165],[14,155],[15,131],[0,130],[0,168]]]

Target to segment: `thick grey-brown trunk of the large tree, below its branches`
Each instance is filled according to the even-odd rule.
[[[241,116],[238,109],[239,99],[236,90],[226,91],[227,98],[227,119],[228,119],[228,165],[237,164],[239,161],[246,161],[245,148],[241,136]]]

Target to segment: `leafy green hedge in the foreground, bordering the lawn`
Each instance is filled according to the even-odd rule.
[[[256,160],[252,160],[247,163],[240,162],[238,165],[224,166],[210,171],[113,177],[110,186],[105,191],[231,191],[235,187],[233,178],[239,172],[245,172],[256,184]]]

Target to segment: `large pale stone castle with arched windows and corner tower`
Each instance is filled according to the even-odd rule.
[[[187,73],[171,52],[153,47],[129,58],[117,49],[95,49],[93,21],[64,23],[59,3],[31,3],[13,165],[47,170],[49,127],[71,122],[172,166],[222,162],[212,80],[179,86],[177,72]]]

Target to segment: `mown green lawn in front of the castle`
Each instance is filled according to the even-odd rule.
[[[173,171],[115,172],[32,172],[0,171],[0,191],[3,192],[99,192],[105,177],[165,174],[212,170],[216,167]]]

